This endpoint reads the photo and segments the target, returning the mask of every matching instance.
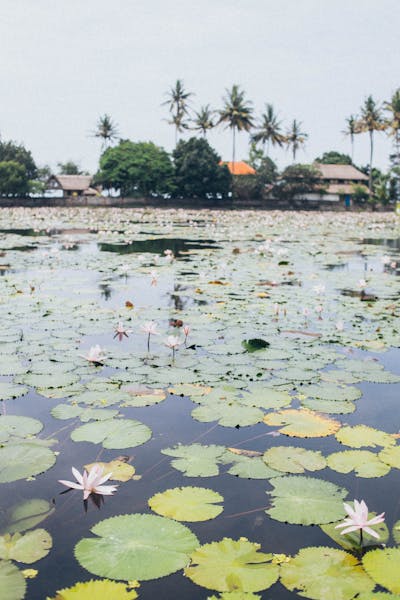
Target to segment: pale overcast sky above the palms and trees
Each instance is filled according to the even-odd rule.
[[[109,113],[122,137],[172,150],[160,106],[183,79],[194,108],[218,108],[243,86],[260,114],[266,102],[309,134],[300,162],[335,149],[368,94],[400,87],[399,0],[0,0],[0,134],[26,144],[39,165],[72,159],[94,171],[96,120]],[[375,163],[388,164],[380,134]],[[225,160],[231,135],[210,143]],[[367,135],[355,162],[368,162]],[[240,134],[238,158],[248,155]],[[282,167],[290,157],[271,152]]]

